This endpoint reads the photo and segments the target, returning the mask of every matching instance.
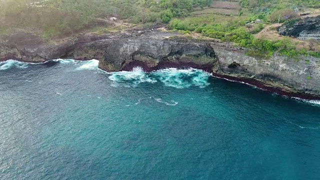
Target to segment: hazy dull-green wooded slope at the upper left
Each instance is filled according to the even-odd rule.
[[[0,34],[23,29],[43,37],[68,36],[83,29],[110,26],[108,17],[133,23],[168,22],[188,16],[210,0],[5,0],[0,2]],[[106,18],[106,19],[105,19]]]

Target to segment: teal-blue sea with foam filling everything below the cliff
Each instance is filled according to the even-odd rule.
[[[320,107],[196,69],[0,63],[0,179],[319,179]]]

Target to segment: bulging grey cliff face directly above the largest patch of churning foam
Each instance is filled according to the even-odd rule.
[[[137,65],[146,71],[170,66],[209,71],[217,60],[209,42],[162,36],[99,40],[77,48],[74,56],[99,59],[99,67],[106,71],[130,70]]]

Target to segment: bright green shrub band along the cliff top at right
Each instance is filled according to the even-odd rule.
[[[297,50],[290,37],[280,40],[256,38],[253,33],[263,29],[262,23],[248,30],[245,27],[244,17],[229,17],[222,15],[207,15],[202,17],[174,18],[168,23],[170,29],[188,30],[201,33],[203,36],[220,39],[221,41],[235,42],[241,47],[248,48],[247,55],[268,58],[274,52],[298,59],[299,54],[316,55],[318,52]]]

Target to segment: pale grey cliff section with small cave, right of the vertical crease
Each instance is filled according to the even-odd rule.
[[[269,59],[245,55],[245,50],[211,43],[219,67],[217,75],[254,79],[286,92],[307,92],[320,95],[320,59],[300,56],[299,60],[274,54]]]

